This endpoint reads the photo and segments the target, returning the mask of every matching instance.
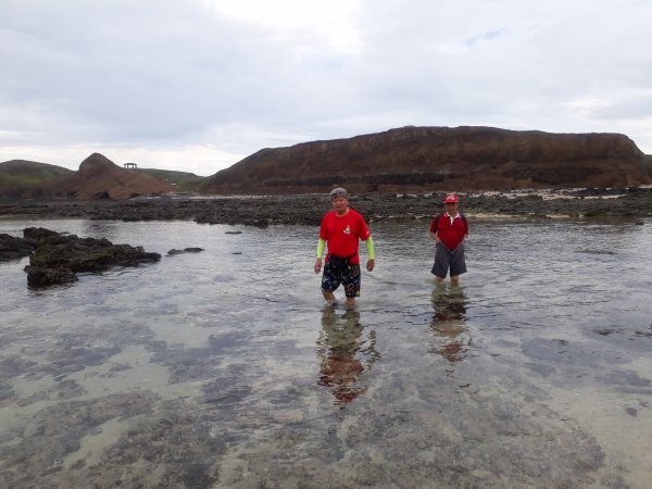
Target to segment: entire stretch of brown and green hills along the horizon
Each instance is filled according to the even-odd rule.
[[[126,168],[93,153],[77,172],[0,163],[0,199],[128,200],[299,195],[343,186],[360,193],[637,187],[652,184],[652,156],[622,134],[552,134],[493,127],[401,127],[348,139],[262,149],[209,177]]]

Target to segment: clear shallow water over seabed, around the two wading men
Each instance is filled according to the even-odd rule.
[[[443,288],[428,224],[372,223],[347,311],[313,228],[0,221],[204,248],[0,264],[0,487],[649,487],[652,222],[472,221]]]

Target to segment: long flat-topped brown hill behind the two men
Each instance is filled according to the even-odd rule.
[[[350,139],[263,149],[223,170],[202,193],[635,186],[650,165],[619,134],[492,127],[403,127]]]

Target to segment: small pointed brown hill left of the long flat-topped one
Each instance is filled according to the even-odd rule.
[[[82,162],[78,172],[39,185],[33,195],[77,200],[123,200],[138,196],[158,196],[173,190],[173,186],[151,175],[121,168],[106,156],[93,153]]]

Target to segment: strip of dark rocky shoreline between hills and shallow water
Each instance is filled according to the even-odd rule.
[[[350,203],[369,222],[429,218],[442,209],[443,192],[358,193]],[[0,216],[108,221],[195,221],[266,227],[318,225],[329,209],[326,195],[195,197],[163,196],[124,201],[20,201],[0,203]],[[592,188],[468,192],[460,210],[469,216],[594,218],[652,216],[652,188]]]

